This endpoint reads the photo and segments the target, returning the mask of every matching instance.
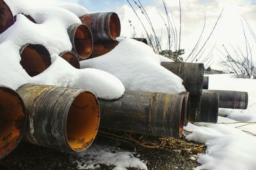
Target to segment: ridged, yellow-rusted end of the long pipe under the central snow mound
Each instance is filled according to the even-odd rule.
[[[186,115],[184,96],[164,93],[153,95],[150,104],[150,131],[156,136],[180,138]]]

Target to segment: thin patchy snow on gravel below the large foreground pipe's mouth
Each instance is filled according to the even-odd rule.
[[[113,170],[124,170],[128,167],[147,170],[145,162],[134,157],[136,153],[125,152],[119,148],[92,145],[86,152],[72,155],[72,162],[78,169],[95,169],[99,164],[115,166]]]

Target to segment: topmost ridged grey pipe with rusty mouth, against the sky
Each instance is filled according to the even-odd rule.
[[[91,29],[95,42],[115,41],[120,36],[121,24],[114,12],[89,13],[80,17],[80,20]]]

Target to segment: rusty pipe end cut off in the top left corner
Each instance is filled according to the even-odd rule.
[[[0,34],[14,24],[12,11],[9,6],[0,0]]]

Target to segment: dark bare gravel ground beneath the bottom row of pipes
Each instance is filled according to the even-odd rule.
[[[131,152],[134,151],[134,146],[132,145],[102,136],[98,136],[95,139],[95,143],[115,146]],[[195,154],[192,152],[149,149],[141,148],[140,146],[136,146],[136,148],[136,152],[140,154],[140,159],[147,161],[148,169],[193,169],[193,167],[200,165],[196,160],[189,159]],[[77,169],[76,164],[72,164],[70,157],[70,153],[21,142],[12,153],[0,160],[0,169]],[[100,165],[100,170],[112,168]],[[133,170],[134,168],[129,169]]]

